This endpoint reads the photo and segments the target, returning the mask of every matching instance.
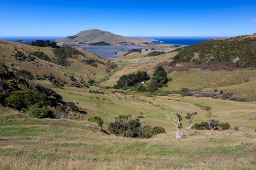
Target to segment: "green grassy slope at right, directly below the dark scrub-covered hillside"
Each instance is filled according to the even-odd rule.
[[[232,92],[243,97],[256,97],[256,70],[236,69],[234,71],[210,71],[191,69],[189,71],[174,71],[168,74],[172,78],[168,87],[162,90],[177,91],[182,88],[191,90],[204,89],[213,92],[214,89]],[[251,76],[251,82],[245,82],[244,77]]]

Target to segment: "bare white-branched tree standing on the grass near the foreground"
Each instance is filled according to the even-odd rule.
[[[179,107],[179,108],[175,108],[176,112],[171,112],[171,111],[166,111],[166,116],[167,116],[167,120],[171,121],[175,126],[176,126],[176,139],[180,139],[181,137],[183,137],[184,133],[188,130],[192,128],[192,120],[193,120],[193,116],[195,116],[197,114],[197,112],[195,113],[186,113],[183,114],[183,108]],[[183,119],[183,117],[185,117],[187,119],[187,122],[190,124],[190,126],[186,126],[185,130],[181,131],[180,133],[180,129],[182,128],[182,124],[181,124],[181,120]]]

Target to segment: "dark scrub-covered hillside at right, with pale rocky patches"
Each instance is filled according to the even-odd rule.
[[[197,65],[225,63],[233,67],[256,66],[256,34],[212,39],[177,49],[170,66],[181,62],[193,62]]]

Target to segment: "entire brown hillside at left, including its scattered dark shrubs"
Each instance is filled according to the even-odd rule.
[[[54,49],[0,40],[0,52],[1,63],[10,68],[30,71],[37,80],[53,85],[83,87],[89,80],[97,82],[110,75],[110,70],[116,67],[114,62],[70,46]],[[49,77],[59,83],[52,82]]]

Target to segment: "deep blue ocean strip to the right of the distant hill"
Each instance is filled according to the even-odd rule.
[[[153,44],[175,44],[175,45],[191,45],[197,44],[202,41],[207,41],[215,38],[229,38],[229,37],[160,37],[160,36],[150,36],[143,37],[146,39],[154,39],[161,42],[152,42]]]

